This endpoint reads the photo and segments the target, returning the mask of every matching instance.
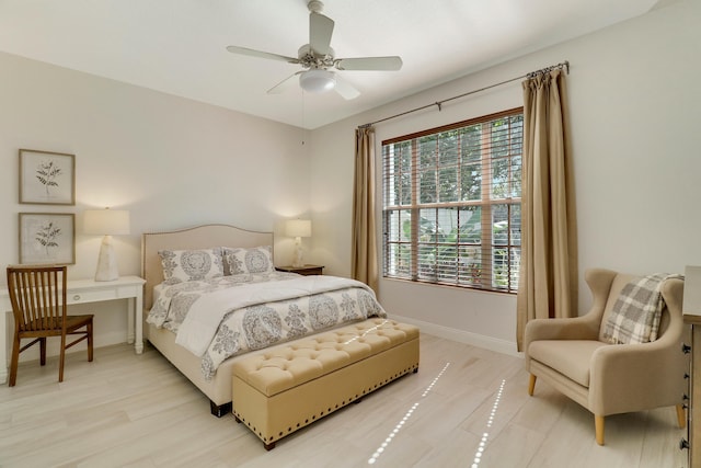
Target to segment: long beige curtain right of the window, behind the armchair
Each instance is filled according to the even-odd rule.
[[[577,315],[577,225],[562,70],[524,81],[524,180],[517,336],[535,318]]]

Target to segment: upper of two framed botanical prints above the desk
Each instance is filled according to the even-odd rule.
[[[20,149],[20,203],[76,205],[76,155]]]

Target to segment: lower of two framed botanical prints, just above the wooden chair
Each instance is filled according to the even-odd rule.
[[[20,264],[76,264],[76,215],[20,213]]]

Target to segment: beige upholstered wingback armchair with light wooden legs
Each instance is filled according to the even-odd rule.
[[[610,414],[676,406],[679,427],[685,427],[683,374],[688,361],[681,351],[683,281],[662,284],[666,307],[657,340],[642,344],[602,341],[602,323],[623,288],[635,276],[609,270],[585,273],[594,304],[582,317],[536,319],[524,338],[528,393],[540,377],[594,413],[596,442],[604,445],[604,418]]]

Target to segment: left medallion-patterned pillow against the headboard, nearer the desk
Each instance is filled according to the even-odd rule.
[[[222,249],[161,250],[165,284],[203,281],[223,276]]]

